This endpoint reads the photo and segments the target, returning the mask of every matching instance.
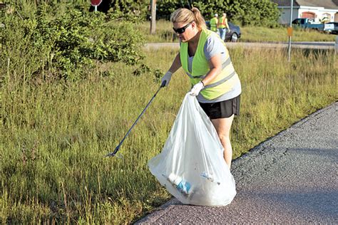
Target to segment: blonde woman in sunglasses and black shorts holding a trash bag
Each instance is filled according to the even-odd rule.
[[[200,106],[215,126],[224,147],[224,159],[231,167],[230,128],[234,115],[240,112],[241,85],[225,43],[215,32],[205,28],[197,8],[178,9],[170,16],[173,29],[180,39],[180,53],[163,76],[168,85],[173,73],[181,66],[188,74]]]

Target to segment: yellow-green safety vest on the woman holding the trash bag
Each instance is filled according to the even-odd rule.
[[[204,54],[205,42],[210,35],[217,36],[216,33],[207,29],[203,29],[201,31],[200,40],[198,41],[198,48],[193,58],[192,71],[188,70],[188,42],[182,42],[180,45],[180,62],[182,64],[183,70],[185,70],[185,73],[188,74],[190,83],[192,85],[195,85],[196,83],[200,82],[200,80],[203,80],[205,75],[210,70],[209,63]],[[220,37],[217,36],[217,38]],[[225,45],[221,39],[220,41]],[[229,92],[240,80],[237,73],[235,72],[235,68],[232,66],[229,52],[227,51],[226,47],[225,54],[227,59],[224,63],[222,63],[222,71],[214,80],[212,80],[210,84],[205,85],[205,88],[203,88],[203,90],[200,92],[203,97],[208,100],[215,99],[220,97],[220,95],[224,95],[225,93]]]

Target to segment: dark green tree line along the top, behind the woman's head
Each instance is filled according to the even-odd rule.
[[[24,0],[41,3],[62,4],[67,0]],[[73,0],[73,4],[87,4],[88,10],[93,7],[88,0]],[[227,13],[227,17],[240,23],[239,25],[276,26],[280,16],[277,4],[270,0],[158,0],[156,6],[156,19],[169,19],[170,14],[178,8],[198,7],[209,20],[213,14]],[[98,11],[121,11],[123,14],[136,14],[142,19],[150,18],[150,0],[103,0]]]

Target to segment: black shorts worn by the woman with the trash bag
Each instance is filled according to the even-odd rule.
[[[240,95],[218,103],[200,103],[200,106],[210,119],[227,118],[232,114],[240,115]]]

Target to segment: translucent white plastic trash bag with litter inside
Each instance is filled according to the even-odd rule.
[[[198,100],[185,95],[162,152],[150,172],[183,204],[225,206],[236,195],[215,127]]]

